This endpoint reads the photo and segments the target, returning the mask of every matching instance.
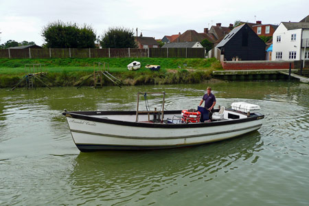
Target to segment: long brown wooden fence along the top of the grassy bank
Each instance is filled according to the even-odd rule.
[[[0,49],[0,58],[205,58],[204,48]]]

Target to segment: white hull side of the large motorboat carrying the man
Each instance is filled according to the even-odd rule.
[[[217,126],[198,123],[200,126],[193,128],[156,128],[150,126],[150,123],[144,123],[144,126],[127,126],[73,117],[67,117],[67,122],[76,146],[82,151],[192,146],[229,139],[258,130],[262,126],[262,119]]]

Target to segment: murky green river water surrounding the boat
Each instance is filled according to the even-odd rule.
[[[0,89],[0,205],[308,205],[309,84],[209,85],[217,106],[260,105],[262,128],[189,148],[84,153],[63,109],[135,110],[138,91],[196,108],[207,85]]]

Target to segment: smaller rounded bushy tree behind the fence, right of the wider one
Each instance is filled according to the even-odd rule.
[[[135,48],[134,32],[124,27],[110,27],[102,35],[100,45],[103,48]]]

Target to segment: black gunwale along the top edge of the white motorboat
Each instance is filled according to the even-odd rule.
[[[228,110],[228,109],[227,109]],[[233,110],[231,110],[233,111]],[[238,111],[233,111],[240,113]],[[165,114],[180,114],[181,111],[164,111]],[[257,119],[263,119],[264,115],[260,113],[251,114],[249,117],[244,119],[233,119],[229,121],[218,121],[218,122],[209,122],[209,123],[197,123],[197,124],[152,124],[146,122],[126,122],[115,119],[105,119],[99,117],[91,117],[90,115],[135,115],[136,111],[65,111],[62,115],[73,117],[75,119],[82,119],[92,122],[101,122],[105,124],[116,124],[122,126],[137,126],[145,128],[200,128],[200,127],[209,127],[209,126],[222,126],[229,124],[240,124],[244,122],[251,122]],[[244,115],[244,113],[240,113]]]

